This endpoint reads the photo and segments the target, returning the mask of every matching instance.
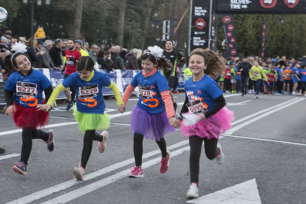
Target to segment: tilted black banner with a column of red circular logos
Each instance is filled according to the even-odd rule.
[[[221,14],[222,27],[225,37],[226,50],[224,50],[224,57],[237,57],[237,37],[235,30],[234,17],[230,14]]]

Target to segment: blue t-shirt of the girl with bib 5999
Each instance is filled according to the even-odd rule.
[[[185,95],[189,103],[201,100],[202,104],[210,111],[216,104],[215,99],[220,97],[223,91],[218,84],[207,74],[200,81],[193,81],[193,77],[185,82]]]

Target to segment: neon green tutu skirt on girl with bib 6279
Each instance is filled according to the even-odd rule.
[[[96,113],[81,113],[77,111],[76,106],[73,106],[73,115],[76,121],[79,122],[79,129],[82,133],[86,130],[106,130],[110,127],[111,115]]]

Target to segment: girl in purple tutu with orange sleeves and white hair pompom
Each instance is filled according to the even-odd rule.
[[[155,140],[162,152],[160,173],[168,170],[170,154],[167,151],[164,135],[175,132],[179,121],[175,119],[174,107],[168,91],[168,82],[157,70],[167,72],[171,64],[162,58],[163,50],[148,47],[147,52],[140,56],[143,68],[138,72],[125,89],[123,102],[126,105],[135,87],[139,87],[139,101],[132,109],[131,130],[134,133],[135,167],[129,174],[130,178],[144,177],[142,164],[142,142],[146,139]]]

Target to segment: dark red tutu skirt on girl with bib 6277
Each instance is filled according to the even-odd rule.
[[[17,127],[36,129],[49,124],[49,112],[37,111],[36,106],[25,108],[16,103],[14,103],[14,106],[17,110],[13,114],[13,121]]]

